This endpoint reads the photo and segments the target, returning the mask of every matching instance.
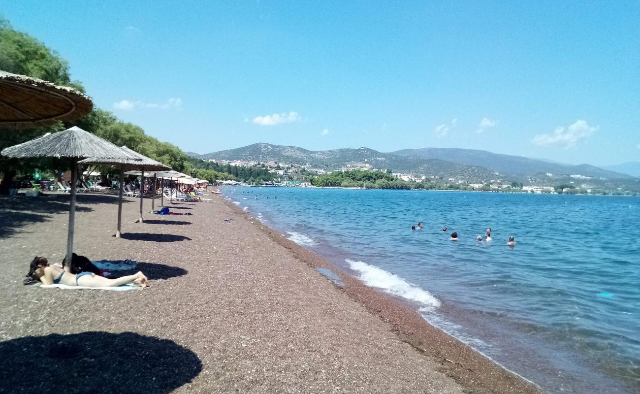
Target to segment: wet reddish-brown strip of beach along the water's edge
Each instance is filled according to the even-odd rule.
[[[366,189],[364,189],[366,190]],[[443,190],[445,192],[449,190]],[[456,191],[456,190],[451,190]],[[408,343],[425,357],[431,357],[442,367],[440,372],[451,377],[474,393],[544,393],[535,382],[500,365],[489,356],[472,349],[466,343],[429,324],[406,302],[366,286],[355,277],[335,267],[323,256],[306,249],[271,229],[249,211],[219,196],[228,208],[242,215],[245,220],[257,220],[271,240],[289,249],[296,259],[313,268],[328,268],[344,282],[349,298],[362,304],[369,312],[385,323],[391,324],[399,340]],[[330,279],[327,278],[328,281]],[[336,286],[339,287],[339,286]]]

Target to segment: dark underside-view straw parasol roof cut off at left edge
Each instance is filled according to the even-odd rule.
[[[37,127],[76,120],[92,108],[91,99],[73,88],[0,70],[2,126]]]

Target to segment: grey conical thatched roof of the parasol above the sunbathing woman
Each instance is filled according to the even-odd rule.
[[[1,153],[12,158],[97,158],[114,164],[140,161],[131,152],[77,126],[13,145]]]

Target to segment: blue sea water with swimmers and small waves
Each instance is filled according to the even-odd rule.
[[[319,188],[223,195],[550,392],[640,391],[637,197]],[[418,222],[424,229],[412,231]],[[487,227],[493,241],[477,242]]]

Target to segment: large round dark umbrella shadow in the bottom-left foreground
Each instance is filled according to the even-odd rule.
[[[0,393],[170,393],[201,371],[193,351],[135,332],[0,342]]]

